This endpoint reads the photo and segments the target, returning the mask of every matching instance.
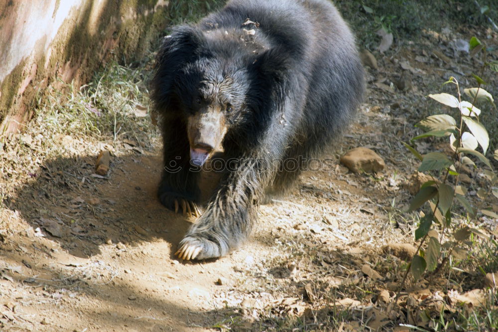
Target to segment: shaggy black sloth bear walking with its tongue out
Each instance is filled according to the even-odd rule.
[[[282,164],[333,146],[364,90],[355,37],[329,0],[231,0],[174,27],[157,52],[150,98],[163,138],[159,200],[198,217],[175,255],[238,248],[259,205],[301,171]],[[214,154],[227,170],[202,210],[198,168]]]

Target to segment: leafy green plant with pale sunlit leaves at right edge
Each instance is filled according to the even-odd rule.
[[[470,40],[472,54],[481,52],[483,55],[483,68],[498,71],[496,62],[487,61],[486,45],[477,38]],[[496,109],[493,96],[482,88],[486,82],[477,75],[477,88],[465,89],[465,94],[472,102],[462,100],[460,86],[454,77],[444,84],[454,84],[457,96],[448,93],[430,94],[429,97],[437,102],[458,110],[458,120],[448,114],[432,115],[420,121],[416,126],[425,133],[415,137],[418,140],[427,137],[449,137],[450,154],[430,152],[421,156],[408,144],[405,146],[421,161],[418,171],[426,172],[432,179],[425,182],[420,191],[410,202],[410,210],[422,207],[426,202],[430,205],[428,213],[422,215],[420,225],[415,230],[415,240],[419,241],[417,254],[409,264],[400,289],[406,277],[411,272],[413,278],[418,280],[426,271],[436,274],[451,256],[463,259],[467,256],[466,247],[474,244],[476,236],[481,232],[471,227],[472,221],[479,214],[498,219],[494,210],[498,206],[489,203],[491,196],[498,198],[498,175],[490,159],[486,157],[489,149],[489,135],[485,126],[479,121],[481,110],[476,107],[478,102],[489,102]],[[478,148],[482,153],[478,151]],[[498,161],[498,150],[494,152],[494,159]],[[476,159],[481,164],[476,164]],[[479,201],[473,202],[467,196],[467,188],[461,183],[460,175],[463,168],[480,168],[488,182],[477,190]],[[458,223],[454,215],[460,215],[458,205],[465,211],[464,220]],[[439,224],[439,228],[433,227]],[[440,234],[438,232],[440,230]],[[425,246],[424,246],[425,245]]]

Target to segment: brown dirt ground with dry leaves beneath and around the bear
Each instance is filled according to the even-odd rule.
[[[3,192],[1,331],[320,331],[327,317],[343,331],[394,329],[372,313],[385,308],[377,293],[393,295],[405,266],[381,247],[413,243],[417,227],[401,212],[411,197],[405,183],[418,166],[401,142],[416,136],[421,110],[436,107],[426,95],[440,92],[449,76],[473,86],[468,73],[479,61],[452,46],[472,35],[498,40],[493,31],[427,32],[419,42],[395,42],[387,55],[374,52],[379,69],[368,69],[358,121],[324,156],[334,166],[303,174],[289,196],[261,206],[249,241],[217,260],[173,255],[194,220],[156,199],[157,138],[150,148],[111,140],[105,177],[94,174],[94,165],[109,139],[95,154],[82,154],[89,143],[73,137],[64,144],[72,157],[34,161],[35,171]],[[409,85],[404,90],[391,84],[400,77]],[[421,153],[428,142],[417,143]],[[15,144],[0,154],[15,158]],[[339,164],[360,146],[384,159],[382,172],[353,174]],[[365,265],[380,279],[370,278]],[[338,317],[331,304],[353,309]],[[406,315],[385,317],[416,323]]]

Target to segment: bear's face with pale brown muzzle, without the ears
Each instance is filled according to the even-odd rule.
[[[179,70],[176,95],[186,119],[192,164],[202,166],[223,151],[227,132],[250,121],[249,80],[248,71],[228,59],[201,58]]]

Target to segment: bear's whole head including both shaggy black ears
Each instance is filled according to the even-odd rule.
[[[249,148],[267,130],[275,94],[282,95],[286,57],[264,36],[180,26],[165,37],[156,60],[152,100],[185,125],[193,165],[215,152]],[[230,142],[230,144],[227,144]]]

